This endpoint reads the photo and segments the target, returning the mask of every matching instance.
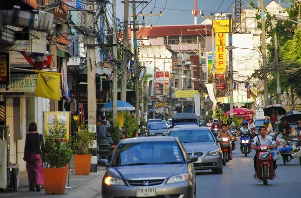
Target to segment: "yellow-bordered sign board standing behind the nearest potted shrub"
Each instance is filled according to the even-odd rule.
[[[45,112],[45,130],[48,132],[49,129],[55,127],[56,122],[59,125],[66,126],[66,136],[69,139],[70,134],[70,112]]]

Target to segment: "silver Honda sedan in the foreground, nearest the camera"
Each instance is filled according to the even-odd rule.
[[[196,178],[192,162],[176,137],[121,140],[102,179],[102,197],[195,198]]]

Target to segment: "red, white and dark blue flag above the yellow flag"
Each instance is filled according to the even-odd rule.
[[[36,69],[43,69],[45,65],[51,65],[51,54],[44,54],[38,52],[19,51],[27,62]]]

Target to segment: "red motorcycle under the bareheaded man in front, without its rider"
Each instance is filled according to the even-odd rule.
[[[257,165],[257,181],[263,181],[264,185],[267,185],[267,179],[274,179],[273,178],[273,157],[268,149],[272,149],[272,146],[267,145],[260,145],[255,146],[255,150],[259,150],[259,153],[256,157],[256,165]]]

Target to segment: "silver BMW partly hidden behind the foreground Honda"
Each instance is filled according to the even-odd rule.
[[[195,170],[211,169],[216,174],[223,173],[221,148],[207,127],[174,128],[169,136],[180,139],[188,156],[198,156]]]

